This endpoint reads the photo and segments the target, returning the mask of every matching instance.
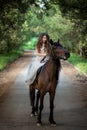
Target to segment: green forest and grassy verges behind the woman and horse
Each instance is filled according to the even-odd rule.
[[[59,38],[69,61],[87,73],[86,0],[0,0],[0,70],[35,49],[41,32]]]

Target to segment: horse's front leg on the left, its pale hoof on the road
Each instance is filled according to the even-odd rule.
[[[40,95],[40,106],[39,106],[39,112],[38,112],[38,118],[37,118],[37,126],[40,126],[42,124],[41,114],[44,107],[43,100],[44,100],[44,95]]]

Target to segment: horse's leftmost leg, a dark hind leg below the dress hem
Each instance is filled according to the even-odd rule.
[[[32,106],[32,111],[31,111],[31,116],[35,115],[35,89],[33,88],[32,85],[29,86],[30,89],[30,102],[31,102],[31,106]]]

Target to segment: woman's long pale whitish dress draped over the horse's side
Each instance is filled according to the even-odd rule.
[[[41,54],[46,54],[43,47],[41,48],[40,52]],[[37,54],[36,51],[35,51],[35,54]],[[45,62],[43,63],[40,62],[44,56],[36,55],[35,60],[30,63],[29,68],[28,68],[28,73],[27,73],[27,80],[26,80],[26,83],[28,85],[34,82],[36,78],[37,70],[39,69],[39,67],[45,64]]]

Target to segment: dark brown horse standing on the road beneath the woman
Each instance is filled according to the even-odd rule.
[[[30,101],[31,101],[31,106],[32,106],[31,115],[33,116],[37,114],[38,116],[37,125],[42,124],[41,113],[43,110],[43,100],[47,92],[50,95],[49,122],[51,125],[54,125],[54,126],[56,125],[56,122],[54,121],[54,117],[53,117],[53,108],[54,108],[55,91],[56,91],[58,78],[59,78],[59,72],[61,68],[60,59],[66,60],[69,57],[70,57],[70,53],[68,52],[68,50],[64,49],[63,46],[59,42],[53,43],[51,47],[51,53],[49,55],[49,60],[42,67],[40,73],[36,77],[33,84],[29,86]],[[36,103],[35,103],[35,90],[36,89],[38,90],[38,92],[37,92]],[[39,110],[38,110],[38,104],[39,104]]]

